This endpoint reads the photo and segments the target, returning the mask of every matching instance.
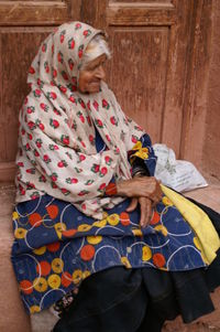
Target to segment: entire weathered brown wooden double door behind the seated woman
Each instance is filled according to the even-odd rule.
[[[108,83],[122,109],[145,128],[153,142],[164,142],[177,157],[200,165],[212,2],[0,1],[0,182],[13,180],[18,113],[28,92],[30,63],[53,26],[70,19],[108,32],[112,50]]]

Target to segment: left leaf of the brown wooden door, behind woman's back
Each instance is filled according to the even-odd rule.
[[[0,181],[12,181],[18,114],[28,93],[29,66],[42,42],[70,19],[79,19],[77,0],[0,1]]]

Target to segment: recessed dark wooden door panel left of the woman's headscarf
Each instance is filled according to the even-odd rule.
[[[35,28],[30,29],[23,32],[22,29],[0,31],[1,41],[4,45],[1,54],[2,71],[0,77],[2,84],[0,162],[10,162],[15,158],[18,115],[29,92],[28,71],[41,42],[48,34],[43,29],[38,31]]]

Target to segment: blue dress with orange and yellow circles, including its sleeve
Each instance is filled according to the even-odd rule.
[[[97,150],[101,149],[97,133]],[[134,157],[146,157],[153,175],[156,158],[146,135],[129,153],[131,162]],[[127,212],[129,203],[127,199],[106,211],[101,221],[47,194],[16,205],[12,263],[29,312],[51,307],[91,274],[113,266],[167,271],[206,266],[195,233],[166,196],[145,228],[139,225],[139,207]]]

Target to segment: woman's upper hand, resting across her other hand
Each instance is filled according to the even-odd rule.
[[[160,182],[153,176],[133,178],[117,183],[117,194],[127,197],[147,197],[153,204],[162,200]]]

